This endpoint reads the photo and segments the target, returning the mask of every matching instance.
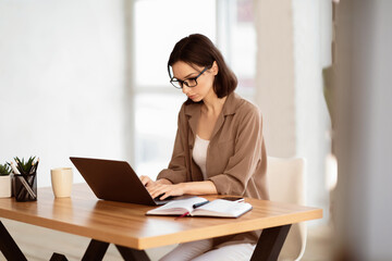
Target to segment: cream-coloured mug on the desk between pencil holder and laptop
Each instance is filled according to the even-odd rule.
[[[73,173],[72,167],[57,167],[50,170],[54,197],[71,197]]]

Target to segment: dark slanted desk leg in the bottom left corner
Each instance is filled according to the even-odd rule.
[[[25,260],[26,257],[23,254],[21,249],[17,247],[10,233],[7,231],[3,223],[0,221],[0,251],[4,254],[7,260]]]

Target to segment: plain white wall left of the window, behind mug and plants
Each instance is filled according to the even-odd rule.
[[[0,1],[0,163],[124,156],[122,1]],[[82,181],[79,176],[75,182]]]

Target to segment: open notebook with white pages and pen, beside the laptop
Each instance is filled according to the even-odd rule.
[[[207,199],[193,197],[171,201],[162,207],[147,211],[147,215],[191,215],[191,216],[217,216],[217,217],[238,217],[252,210],[252,204],[246,202],[235,202],[224,199],[215,199],[206,202]]]

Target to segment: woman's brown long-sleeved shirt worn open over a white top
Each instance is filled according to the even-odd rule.
[[[172,159],[158,179],[167,178],[173,184],[204,181],[200,169],[192,159],[201,104],[182,105]],[[228,96],[212,130],[206,170],[207,178],[221,195],[269,199],[261,114],[256,105],[234,92]],[[220,237],[216,245],[256,243],[258,236],[259,233],[244,233]]]

